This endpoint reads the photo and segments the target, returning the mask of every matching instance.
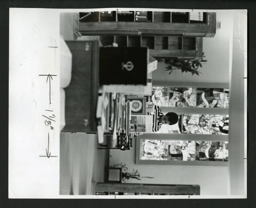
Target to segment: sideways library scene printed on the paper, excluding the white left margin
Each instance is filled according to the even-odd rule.
[[[60,13],[60,194],[245,195],[245,19]]]

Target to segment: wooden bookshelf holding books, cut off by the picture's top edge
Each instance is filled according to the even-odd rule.
[[[216,33],[214,12],[80,12],[75,14],[75,21],[78,22],[75,33],[81,35],[214,37]]]

